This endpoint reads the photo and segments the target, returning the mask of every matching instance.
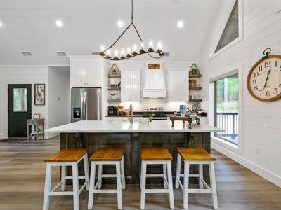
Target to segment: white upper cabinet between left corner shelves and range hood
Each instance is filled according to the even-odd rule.
[[[121,101],[141,102],[141,71],[121,71]]]

